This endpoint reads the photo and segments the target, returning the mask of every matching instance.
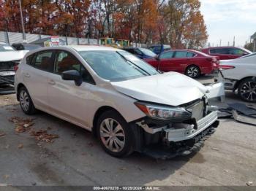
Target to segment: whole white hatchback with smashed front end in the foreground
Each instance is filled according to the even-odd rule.
[[[153,153],[153,146],[185,151],[218,125],[207,87],[113,47],[31,51],[18,66],[15,89],[23,112],[39,109],[91,130],[116,157]]]

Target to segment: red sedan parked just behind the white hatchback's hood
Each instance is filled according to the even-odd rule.
[[[187,49],[165,51],[157,58],[146,58],[144,61],[160,71],[178,71],[192,78],[211,74],[219,67],[219,58]]]

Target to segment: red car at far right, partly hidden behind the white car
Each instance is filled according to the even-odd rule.
[[[202,52],[208,55],[218,56],[220,60],[236,59],[252,53],[243,47],[208,47],[202,49]]]

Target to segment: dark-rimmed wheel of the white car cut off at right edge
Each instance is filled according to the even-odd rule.
[[[238,95],[244,101],[256,102],[256,82],[253,79],[244,79],[238,85]]]

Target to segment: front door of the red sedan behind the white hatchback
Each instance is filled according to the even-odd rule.
[[[160,71],[176,71],[176,64],[173,62],[174,51],[162,52],[159,55]]]

